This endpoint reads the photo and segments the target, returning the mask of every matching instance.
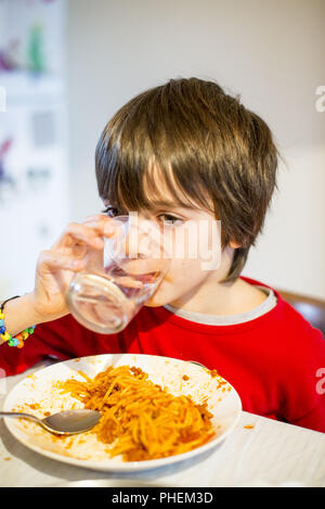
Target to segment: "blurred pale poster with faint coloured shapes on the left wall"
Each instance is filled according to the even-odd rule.
[[[65,10],[0,0],[0,297],[31,289],[38,254],[67,220]]]

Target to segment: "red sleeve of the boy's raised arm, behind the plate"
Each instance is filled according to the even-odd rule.
[[[110,334],[107,340],[107,336],[82,327],[72,315],[66,315],[57,320],[38,325],[34,334],[25,341],[23,348],[3,343],[0,346],[0,369],[9,377],[25,371],[46,357],[66,360],[118,351],[117,334]]]

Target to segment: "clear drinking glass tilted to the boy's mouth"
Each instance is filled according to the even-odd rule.
[[[113,220],[114,237],[104,237],[101,254],[90,252],[86,268],[76,273],[66,293],[72,315],[87,329],[103,334],[127,327],[156,292],[170,266],[155,234],[142,236],[141,249],[136,238],[134,250],[130,247],[130,216]]]

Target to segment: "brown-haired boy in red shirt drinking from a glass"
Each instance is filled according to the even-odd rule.
[[[266,284],[240,277],[276,187],[278,153],[265,123],[214,82],[170,80],[122,106],[95,154],[104,213],[72,224],[40,254],[34,292],[5,305],[16,334],[37,323],[24,348],[0,346],[0,367],[21,372],[44,356],[143,353],[196,360],[237,390],[245,410],[325,432],[317,372],[325,342]],[[110,217],[138,212],[169,237],[188,221],[221,221],[221,263],[172,259],[168,278],[128,327],[110,335],[80,326],[64,301]],[[191,239],[190,239],[191,240]],[[73,264],[76,264],[74,266]]]

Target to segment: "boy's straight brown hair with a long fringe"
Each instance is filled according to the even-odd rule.
[[[278,155],[268,125],[238,96],[213,81],[170,79],[108,122],[95,152],[98,188],[120,211],[150,209],[159,193],[151,169],[159,171],[177,203],[221,220],[223,247],[240,245],[224,279],[233,281],[262,230]]]

